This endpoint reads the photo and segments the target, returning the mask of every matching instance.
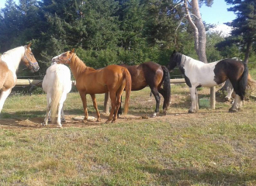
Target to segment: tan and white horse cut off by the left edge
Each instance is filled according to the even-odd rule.
[[[16,71],[22,61],[30,71],[39,70],[39,65],[30,49],[31,43],[22,47],[8,50],[0,57],[0,113],[6,98],[16,85]]]

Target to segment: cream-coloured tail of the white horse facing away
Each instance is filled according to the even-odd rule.
[[[56,122],[56,115],[59,107],[59,102],[64,91],[63,85],[61,84],[60,74],[61,73],[58,73],[57,70],[55,71],[54,87],[50,98],[50,119],[53,122]]]

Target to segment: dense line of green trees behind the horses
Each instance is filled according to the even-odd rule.
[[[89,67],[95,68],[119,63],[140,64],[148,60],[165,65],[172,50],[197,58],[193,30],[184,19],[186,12],[182,2],[19,0],[16,4],[7,0],[0,13],[0,53],[32,42],[33,53],[43,72],[52,57],[72,48]],[[199,2],[210,5],[209,0]],[[226,2],[232,4],[234,1]],[[252,21],[248,24],[249,28],[252,27],[250,34],[255,34],[255,3],[244,0],[238,4],[242,2],[251,3],[251,12],[247,11],[247,14],[251,15]],[[239,17],[245,15],[243,9],[230,11],[240,12]],[[235,24],[233,22],[232,26]],[[206,30],[211,27],[206,23],[205,26]],[[247,50],[246,41],[250,38],[251,51],[255,51],[253,35],[248,37],[247,32],[247,40],[244,40],[241,32],[238,32],[238,37],[235,34],[226,39],[221,33],[207,34],[209,62],[225,57],[243,57],[243,51]]]

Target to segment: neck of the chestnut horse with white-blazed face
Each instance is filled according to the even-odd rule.
[[[71,71],[75,79],[88,68],[78,56],[74,55],[70,63]]]

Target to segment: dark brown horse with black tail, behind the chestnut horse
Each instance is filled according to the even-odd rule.
[[[156,64],[152,61],[133,66],[126,64],[119,65],[126,67],[130,72],[132,77],[132,91],[139,91],[147,86],[150,87],[150,90],[156,100],[156,108],[152,116],[156,117],[159,114],[159,105],[161,99],[159,93],[164,98],[163,111],[164,115],[166,115],[168,106],[170,105],[171,101],[170,74],[167,67],[161,66],[160,64]],[[119,114],[122,113],[120,108]]]

